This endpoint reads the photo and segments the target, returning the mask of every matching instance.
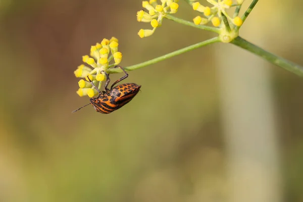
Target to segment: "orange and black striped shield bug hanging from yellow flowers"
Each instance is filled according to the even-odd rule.
[[[107,78],[105,82],[105,91],[100,91],[88,78],[91,85],[99,92],[99,96],[90,98],[90,103],[84,105],[83,107],[92,105],[97,112],[100,112],[102,114],[110,114],[111,112],[114,112],[115,110],[118,110],[127,103],[129,103],[130,100],[132,100],[132,98],[134,98],[134,96],[139,92],[141,85],[137,85],[135,83],[124,83],[114,87],[114,85],[128,77],[127,72],[122,67],[116,67],[119,67],[125,73],[125,76],[115,81],[112,84],[111,89],[108,89],[108,85],[111,81],[110,77],[104,71],[103,73],[106,75]],[[77,112],[83,107],[73,112]]]

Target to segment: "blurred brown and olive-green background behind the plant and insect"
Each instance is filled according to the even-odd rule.
[[[302,7],[260,1],[240,34],[303,65]],[[141,92],[112,114],[71,114],[90,45],[117,37],[128,66],[214,36],[165,20],[140,39],[139,10],[0,1],[0,201],[303,201],[303,79],[232,44],[130,72]]]

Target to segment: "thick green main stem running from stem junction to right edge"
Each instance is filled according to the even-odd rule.
[[[265,60],[267,60],[268,62],[270,62],[274,65],[282,67],[283,69],[286,69],[287,71],[290,71],[298,76],[303,77],[303,67],[302,66],[299,66],[284,58],[281,58],[272,53],[269,53],[269,52],[265,51],[264,49],[262,49],[261,47],[258,47],[257,45],[254,45],[239,36],[236,37],[233,41],[231,41],[231,43],[234,45],[237,45],[239,47],[242,47],[242,48],[246,49],[247,51],[264,58]]]

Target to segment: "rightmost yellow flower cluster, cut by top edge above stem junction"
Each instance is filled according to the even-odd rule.
[[[213,5],[213,7],[203,6],[199,2],[194,2],[192,4],[192,9],[195,11],[198,11],[200,13],[203,13],[206,18],[203,18],[201,16],[197,16],[193,19],[193,23],[196,25],[204,25],[208,23],[209,21],[212,22],[212,24],[215,27],[219,27],[222,20],[222,14],[224,14],[227,19],[233,23],[236,26],[241,26],[243,21],[240,17],[231,18],[225,11],[225,9],[229,9],[233,5],[232,0],[207,0],[210,4]],[[243,3],[243,0],[237,0],[237,5],[241,5]],[[217,17],[218,16],[218,17]]]

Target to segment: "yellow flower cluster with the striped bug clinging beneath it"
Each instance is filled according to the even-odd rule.
[[[98,94],[97,90],[91,85],[87,77],[99,90],[101,90],[102,81],[106,80],[106,76],[102,71],[106,71],[108,68],[121,63],[122,54],[118,52],[118,45],[117,38],[112,37],[110,40],[104,38],[101,43],[96,43],[90,47],[89,56],[82,56],[82,61],[88,66],[82,64],[74,71],[77,78],[85,78],[86,80],[81,79],[78,82],[80,88],[78,89],[77,94],[79,96],[88,95],[89,97],[93,97]],[[113,59],[114,63],[110,64]]]

